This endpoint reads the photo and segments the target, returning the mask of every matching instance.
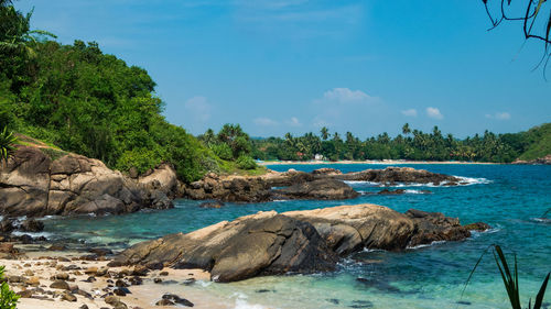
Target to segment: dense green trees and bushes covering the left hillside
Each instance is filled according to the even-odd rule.
[[[3,3],[0,128],[121,170],[142,173],[170,162],[181,179],[192,181],[219,168],[210,150],[164,120],[144,69],[104,54],[94,42],[63,45],[33,36],[30,15]]]

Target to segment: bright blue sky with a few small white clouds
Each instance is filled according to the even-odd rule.
[[[32,27],[96,41],[149,71],[164,115],[193,134],[240,123],[464,137],[551,121],[543,46],[478,0],[20,0]],[[550,74],[551,76],[551,74]]]

